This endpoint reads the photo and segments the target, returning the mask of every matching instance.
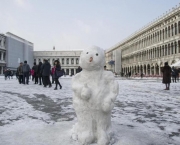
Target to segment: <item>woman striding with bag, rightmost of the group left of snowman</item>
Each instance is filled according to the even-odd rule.
[[[58,86],[58,85],[59,85],[60,89],[62,89],[62,86],[61,86],[61,84],[60,84],[60,82],[59,82],[59,77],[60,77],[59,74],[61,74],[61,73],[63,73],[63,72],[61,72],[61,65],[60,65],[59,60],[56,60],[56,61],[54,62],[54,66],[55,66],[54,79],[55,79],[55,83],[56,83],[56,87],[54,88],[54,90],[57,90],[57,86]],[[62,75],[63,75],[63,74],[62,74]]]

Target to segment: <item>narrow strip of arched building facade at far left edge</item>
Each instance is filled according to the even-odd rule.
[[[0,34],[0,75],[3,74],[4,69],[6,67],[6,36],[4,34]]]

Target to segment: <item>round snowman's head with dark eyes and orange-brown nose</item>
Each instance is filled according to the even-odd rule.
[[[105,55],[104,50],[93,46],[85,49],[80,56],[80,66],[82,69],[92,71],[104,69]]]

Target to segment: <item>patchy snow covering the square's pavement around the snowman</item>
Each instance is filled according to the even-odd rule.
[[[170,91],[161,79],[120,79],[112,112],[114,145],[179,145],[180,83]],[[71,139],[76,120],[71,77],[62,90],[22,85],[0,77],[0,145],[78,145]],[[114,143],[113,143],[114,142]]]

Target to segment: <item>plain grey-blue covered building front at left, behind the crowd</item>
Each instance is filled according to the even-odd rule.
[[[33,66],[33,43],[16,36],[10,32],[6,33],[6,67],[16,70],[20,62],[27,60]]]

